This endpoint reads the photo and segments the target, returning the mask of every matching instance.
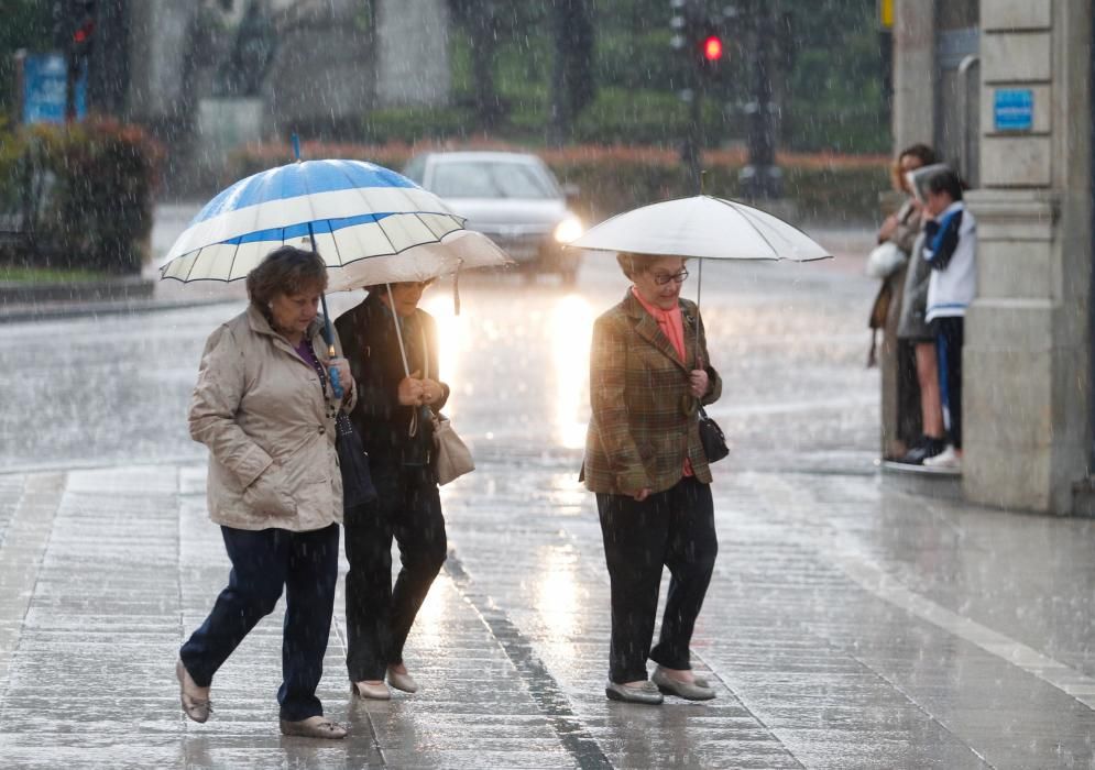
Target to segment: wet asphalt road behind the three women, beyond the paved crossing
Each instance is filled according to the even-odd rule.
[[[694,298],[697,271],[686,285]],[[447,407],[480,452],[572,453],[584,437],[593,319],[622,298],[611,257],[587,261],[579,292],[518,276],[461,279],[424,307],[442,330]],[[741,450],[735,464],[807,463],[868,470],[877,422],[877,377],[862,367],[869,280],[851,260],[826,265],[710,264],[703,316],[723,399],[712,414]],[[0,340],[0,471],[70,463],[200,458],[185,414],[201,346],[243,307],[242,287],[183,287],[162,296],[234,297],[234,302],[151,315],[6,324]],[[360,300],[331,295],[331,311]]]

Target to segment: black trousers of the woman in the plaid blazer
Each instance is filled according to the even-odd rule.
[[[711,487],[689,476],[642,503],[598,494],[596,509],[612,593],[609,678],[646,679],[647,658],[668,669],[691,668],[688,648],[719,552]],[[651,650],[664,565],[671,579]]]

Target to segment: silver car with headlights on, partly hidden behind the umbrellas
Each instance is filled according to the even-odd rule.
[[[430,152],[413,157],[403,174],[502,246],[529,278],[557,273],[565,285],[574,283],[581,250],[562,248],[583,232],[567,206],[574,190],[560,187],[536,155]]]

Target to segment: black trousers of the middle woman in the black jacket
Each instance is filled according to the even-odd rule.
[[[377,499],[346,515],[346,667],[350,681],[383,680],[403,662],[415,616],[445,563],[448,541],[427,469],[372,469]],[[392,585],[392,538],[399,574]]]

